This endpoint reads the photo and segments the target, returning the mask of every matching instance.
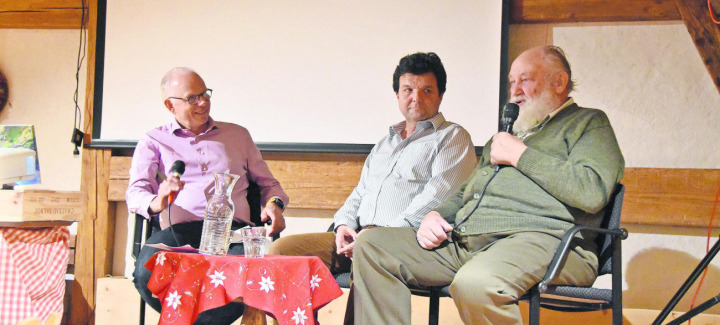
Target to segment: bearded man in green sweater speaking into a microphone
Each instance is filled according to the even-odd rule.
[[[464,323],[522,324],[518,298],[540,282],[566,230],[599,225],[625,167],[605,113],[569,97],[571,77],[560,48],[523,52],[509,74],[520,106],[513,134],[487,142],[467,182],[419,229],[358,237],[356,324],[410,324],[408,286],[444,285]],[[585,235],[556,283],[592,285],[597,268]]]

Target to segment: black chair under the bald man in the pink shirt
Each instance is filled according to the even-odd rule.
[[[262,199],[260,194],[260,186],[254,182],[250,182],[248,185],[247,200],[250,205],[250,221],[256,225],[263,225],[260,220],[260,214],[262,212]],[[133,231],[133,249],[132,257],[137,259],[140,254],[140,249],[145,241],[156,232],[160,231],[160,222],[157,218],[146,219],[142,215],[135,214],[135,229]],[[279,234],[273,236],[273,240],[278,239]],[[145,301],[140,299],[140,324],[145,324]]]

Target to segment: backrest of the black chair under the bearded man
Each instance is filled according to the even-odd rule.
[[[605,216],[600,224],[601,228],[618,229],[620,228],[620,214],[622,212],[623,196],[625,195],[625,186],[618,184],[615,187],[612,198],[605,208]],[[612,273],[612,236],[606,234],[598,234],[598,275]],[[620,261],[618,261],[620,262]]]

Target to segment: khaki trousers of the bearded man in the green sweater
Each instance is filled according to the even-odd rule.
[[[457,238],[433,250],[411,228],[377,228],[353,251],[355,324],[410,324],[408,286],[450,285],[465,324],[522,324],[518,298],[542,280],[560,240],[539,232]],[[591,285],[594,254],[575,248],[555,283]]]

